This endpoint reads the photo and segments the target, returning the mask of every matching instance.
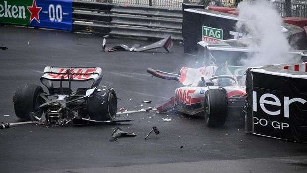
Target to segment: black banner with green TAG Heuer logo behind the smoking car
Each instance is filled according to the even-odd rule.
[[[184,9],[185,53],[197,54],[197,43],[202,40],[218,41],[240,38],[242,33],[235,31],[236,23],[237,18],[232,14],[208,9]]]

